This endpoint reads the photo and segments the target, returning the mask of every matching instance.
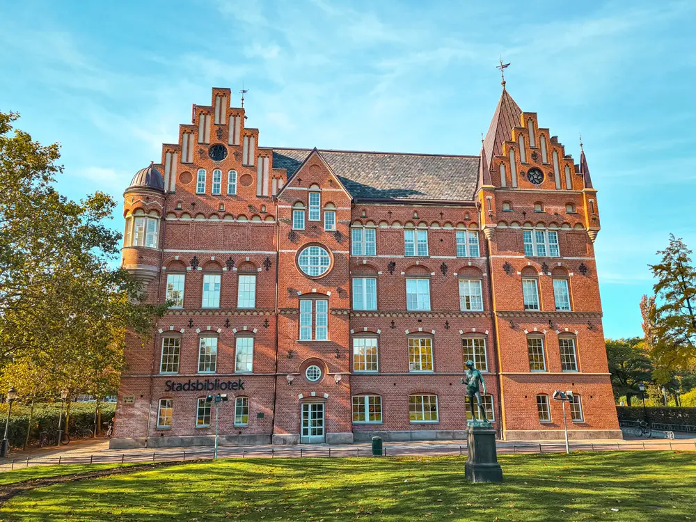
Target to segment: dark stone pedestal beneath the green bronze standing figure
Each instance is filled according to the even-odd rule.
[[[503,482],[503,468],[498,464],[496,429],[490,422],[467,422],[469,458],[464,477],[471,482]]]

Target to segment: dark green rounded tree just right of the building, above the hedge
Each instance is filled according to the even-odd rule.
[[[626,396],[628,406],[631,397],[640,397],[638,383],[651,381],[652,365],[647,352],[641,347],[641,338],[607,339],[606,350],[615,399]]]

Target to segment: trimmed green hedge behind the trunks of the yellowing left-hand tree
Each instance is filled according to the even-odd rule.
[[[0,404],[0,438],[5,433],[5,422],[7,419],[7,404]],[[31,406],[13,404],[12,417],[10,418],[10,430],[8,438],[10,445],[14,448],[21,448],[24,445],[26,437],[26,428],[29,423],[29,411]],[[73,402],[70,405],[70,436],[90,429],[94,425],[94,410],[93,402]],[[114,413],[116,413],[116,404],[102,404],[102,427],[104,423],[109,422]],[[29,436],[30,443],[38,441],[41,432],[50,432],[55,437],[58,430],[58,416],[61,413],[61,404],[35,404],[34,412],[31,420],[31,435]],[[63,408],[63,422],[65,423],[65,408]]]

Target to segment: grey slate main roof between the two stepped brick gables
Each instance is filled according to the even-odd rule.
[[[274,168],[290,178],[312,149],[273,148]],[[356,199],[471,201],[478,156],[319,150]]]

